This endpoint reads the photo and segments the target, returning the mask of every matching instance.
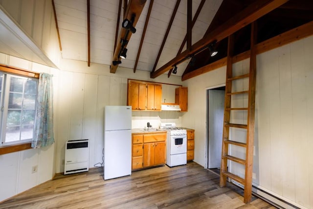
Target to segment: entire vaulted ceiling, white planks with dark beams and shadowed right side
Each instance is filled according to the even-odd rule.
[[[146,70],[151,72],[151,78],[163,73],[172,76],[173,67],[177,66],[176,75],[185,80],[205,72],[202,69],[207,66],[224,65],[227,37],[231,34],[235,55],[248,52],[250,23],[254,21],[259,45],[291,29],[297,30],[300,25],[313,23],[312,0],[52,0],[52,3],[62,58],[84,61],[86,66],[110,65],[112,73],[122,70],[118,67],[134,73]],[[134,33],[122,27],[125,19],[133,23]],[[312,35],[311,28],[299,30],[293,39],[302,33]],[[211,57],[208,46],[215,41],[218,54]],[[281,40],[276,42],[279,46]],[[128,49],[126,59],[119,58],[123,48]]]

